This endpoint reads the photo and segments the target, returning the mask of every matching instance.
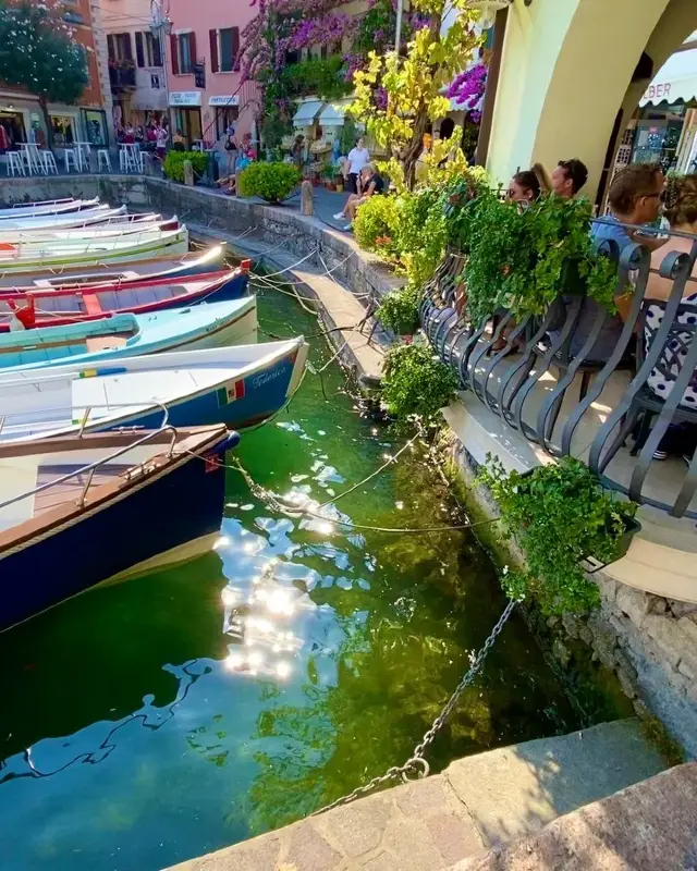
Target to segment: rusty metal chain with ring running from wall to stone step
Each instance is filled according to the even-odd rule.
[[[443,727],[448,717],[454,711],[462,694],[472,684],[474,678],[481,670],[481,666],[484,665],[484,662],[487,659],[489,651],[491,650],[497,638],[501,634],[501,630],[505,626],[506,621],[513,613],[513,609],[516,606],[516,604],[517,602],[515,600],[513,599],[509,600],[506,606],[503,609],[503,613],[499,617],[498,623],[491,630],[491,634],[489,635],[487,640],[484,642],[484,647],[479,650],[477,655],[472,661],[472,665],[463,676],[460,684],[457,684],[455,691],[450,697],[450,699],[448,699],[440,714],[436,717],[436,720],[433,720],[433,724],[424,735],[420,744],[416,745],[414,749],[414,756],[411,759],[407,759],[407,761],[403,765],[393,765],[391,769],[388,769],[387,772],[381,776],[374,777],[364,786],[356,787],[352,793],[348,793],[348,795],[342,796],[341,798],[338,798],[335,801],[332,801],[331,805],[326,805],[323,808],[316,810],[313,814],[310,814],[311,817],[317,817],[320,813],[326,813],[328,810],[333,810],[334,808],[340,808],[344,805],[350,805],[357,798],[363,798],[363,796],[367,795],[368,793],[371,793],[378,786],[382,786],[383,784],[389,783],[390,781],[395,781],[401,777],[404,782],[406,782],[408,780],[407,775],[409,774],[412,775],[417,774],[419,778],[428,776],[430,768],[428,762],[424,758],[426,749],[431,744],[438,732]]]

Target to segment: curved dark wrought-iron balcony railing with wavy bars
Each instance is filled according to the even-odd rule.
[[[427,286],[424,331],[462,389],[508,428],[552,456],[582,458],[636,502],[697,518],[697,238],[688,238],[690,254],[672,250],[669,240],[659,268],[640,245],[620,256],[616,243],[601,243],[617,260],[617,289],[631,282],[634,293],[600,360],[592,352],[612,316],[582,295],[560,296],[540,318],[472,323],[460,315],[461,255],[449,255]],[[651,275],[672,283],[664,303],[647,295]],[[655,457],[667,433],[689,444],[685,459]]]

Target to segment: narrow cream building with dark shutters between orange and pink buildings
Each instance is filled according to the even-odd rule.
[[[163,42],[152,32],[150,0],[99,0],[114,127],[162,121],[168,113]]]

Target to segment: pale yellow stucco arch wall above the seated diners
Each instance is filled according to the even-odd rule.
[[[487,161],[492,175],[506,183],[518,167],[579,157],[589,169],[584,193],[595,198],[636,64],[672,5],[688,8],[686,0],[534,0],[529,8],[516,0]],[[671,50],[689,33],[685,22],[665,29]]]

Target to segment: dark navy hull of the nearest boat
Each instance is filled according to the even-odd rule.
[[[236,443],[224,437],[206,457]],[[125,499],[47,538],[0,554],[0,630],[182,544],[220,529],[225,469],[191,456]],[[115,538],[118,537],[118,539]]]

